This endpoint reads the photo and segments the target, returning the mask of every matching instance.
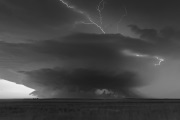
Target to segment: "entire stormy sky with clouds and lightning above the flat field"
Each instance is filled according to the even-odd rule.
[[[0,0],[0,99],[180,98],[178,3]]]

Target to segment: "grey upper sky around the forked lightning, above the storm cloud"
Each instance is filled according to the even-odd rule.
[[[67,0],[72,6],[89,14],[98,22],[97,5],[100,0]],[[160,29],[164,26],[179,27],[178,1],[106,0],[102,11],[103,26],[107,33],[120,32],[131,35],[128,24]],[[86,17],[68,9],[59,0],[1,0],[1,36],[7,40],[49,39],[70,31],[99,33],[94,25],[76,25]],[[102,7],[102,4],[101,4]]]

